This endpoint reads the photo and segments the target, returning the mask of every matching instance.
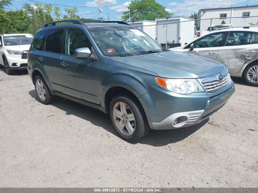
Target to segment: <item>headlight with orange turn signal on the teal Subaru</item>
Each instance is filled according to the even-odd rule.
[[[168,79],[156,77],[156,80],[163,88],[179,94],[204,92],[201,84],[196,79]]]

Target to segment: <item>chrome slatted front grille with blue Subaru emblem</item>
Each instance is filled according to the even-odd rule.
[[[222,79],[219,79],[219,76],[222,75]],[[226,87],[231,82],[231,78],[227,70],[224,70],[222,73],[215,74],[210,77],[204,77],[198,79],[201,83],[205,91],[209,94],[217,92],[224,87]]]

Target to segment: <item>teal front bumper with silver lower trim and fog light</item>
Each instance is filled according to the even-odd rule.
[[[211,95],[205,92],[180,95],[158,87],[139,100],[151,129],[176,129],[207,119],[226,104],[234,91],[233,81],[226,88]],[[178,123],[174,124],[178,117]]]

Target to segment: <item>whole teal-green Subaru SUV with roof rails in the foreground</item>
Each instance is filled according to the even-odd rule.
[[[165,50],[120,21],[46,23],[27,58],[40,102],[59,95],[109,113],[127,141],[200,123],[235,90],[224,65]]]

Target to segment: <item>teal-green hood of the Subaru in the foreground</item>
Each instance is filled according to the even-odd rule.
[[[111,57],[111,60],[149,70],[165,78],[198,78],[220,73],[223,64],[184,52],[158,52],[145,55]]]

